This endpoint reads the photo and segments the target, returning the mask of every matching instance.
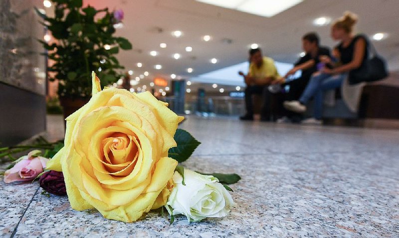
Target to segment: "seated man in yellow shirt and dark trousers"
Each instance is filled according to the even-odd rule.
[[[281,76],[277,72],[277,68],[274,65],[274,60],[269,57],[262,57],[262,51],[260,48],[251,49],[249,51],[250,64],[248,74],[244,75],[239,72],[240,75],[244,76],[245,84],[245,106],[246,114],[240,117],[241,120],[253,120],[253,106],[252,106],[252,95],[261,94],[263,99],[261,120],[270,120],[271,111],[271,93],[267,87],[276,80],[281,80]]]

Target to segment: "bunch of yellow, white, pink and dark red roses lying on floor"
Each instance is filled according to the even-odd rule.
[[[177,129],[184,117],[148,91],[101,90],[94,72],[92,84],[90,101],[66,118],[63,144],[50,146],[43,157],[33,151],[16,160],[4,182],[40,174],[40,186],[56,195],[66,192],[73,209],[96,209],[127,223],[163,207],[171,223],[178,214],[198,222],[229,213],[232,190],[226,184],[237,182],[238,175],[205,175],[179,165],[200,144]],[[50,160],[44,158],[51,153]]]

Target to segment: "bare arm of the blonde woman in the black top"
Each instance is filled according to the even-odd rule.
[[[353,59],[351,62],[333,69],[324,68],[323,72],[330,74],[337,74],[337,73],[348,72],[351,71],[352,69],[357,69],[362,65],[362,61],[365,54],[366,54],[366,40],[360,38],[355,43]]]

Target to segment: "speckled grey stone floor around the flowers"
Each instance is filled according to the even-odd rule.
[[[47,136],[62,137],[62,119],[48,122]],[[74,211],[37,183],[0,182],[0,236],[399,237],[399,131],[196,117],[181,127],[202,142],[187,168],[241,175],[229,216],[125,224]]]

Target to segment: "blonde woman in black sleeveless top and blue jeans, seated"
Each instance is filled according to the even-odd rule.
[[[357,15],[347,11],[331,27],[331,37],[334,40],[340,40],[340,43],[336,46],[340,56],[340,65],[333,68],[322,68],[321,74],[315,74],[311,77],[298,101],[284,102],[284,107],[287,110],[303,113],[306,111],[306,104],[310,98],[314,97],[314,118],[307,119],[304,122],[321,124],[324,91],[341,87],[349,72],[359,70],[367,60],[367,39],[363,35],[353,34],[357,21]],[[332,62],[328,56],[321,56],[320,61],[326,65],[331,65]]]

